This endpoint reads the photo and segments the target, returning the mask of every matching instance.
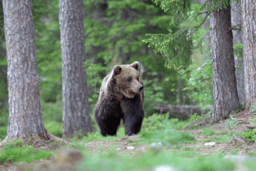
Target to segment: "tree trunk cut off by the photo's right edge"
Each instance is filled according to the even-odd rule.
[[[246,109],[256,102],[256,2],[241,0]]]

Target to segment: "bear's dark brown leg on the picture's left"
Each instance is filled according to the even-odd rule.
[[[96,105],[93,111],[94,119],[99,127],[99,132],[103,137],[116,136],[118,126],[120,125],[121,116],[117,112],[121,110],[111,110]],[[115,115],[113,115],[115,113]]]

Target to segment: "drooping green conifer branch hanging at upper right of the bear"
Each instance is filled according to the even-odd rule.
[[[147,34],[151,37],[143,40],[148,44],[148,47],[154,47],[155,52],[164,54],[166,57],[165,67],[176,69],[186,68],[191,64],[193,38],[195,35],[200,34],[199,28],[207,20],[209,13],[226,8],[230,4],[229,0],[209,0],[201,8],[199,5],[194,5],[190,8],[189,0],[155,0],[155,2],[160,4],[165,12],[169,9],[174,12],[174,19],[170,25],[179,24],[182,18],[191,20],[184,30],[170,34]],[[206,12],[203,12],[205,10]],[[202,13],[206,13],[206,16],[202,17]],[[195,21],[196,24],[193,26],[192,24]]]

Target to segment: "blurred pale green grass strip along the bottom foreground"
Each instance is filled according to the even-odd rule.
[[[82,170],[153,170],[161,165],[170,166],[175,170],[193,170],[193,171],[214,171],[214,170],[233,170],[234,164],[224,161],[222,155],[209,157],[195,157],[195,153],[186,152],[183,154],[186,158],[180,157],[175,153],[158,153],[148,151],[144,155],[119,156],[116,151],[109,153],[89,155],[79,162],[77,169]],[[191,156],[192,158],[189,158]]]

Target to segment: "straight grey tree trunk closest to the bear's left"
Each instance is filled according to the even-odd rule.
[[[74,131],[92,131],[87,92],[87,76],[81,67],[86,60],[81,0],[59,1],[59,27],[62,56],[63,137]],[[77,132],[77,133],[79,133]]]

